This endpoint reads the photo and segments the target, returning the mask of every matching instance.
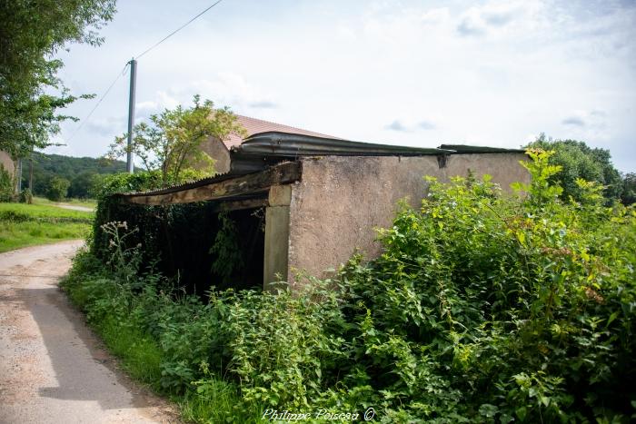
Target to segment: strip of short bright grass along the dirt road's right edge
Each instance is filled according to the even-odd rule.
[[[143,330],[140,318],[140,312],[151,311],[136,297],[123,294],[120,285],[101,273],[104,269],[99,269],[100,265],[91,263],[93,259],[80,253],[75,268],[60,285],[131,378],[174,401],[188,422],[263,422],[260,406],[236,409],[241,403],[238,387],[209,373],[183,391],[162,384],[169,358],[160,342]]]

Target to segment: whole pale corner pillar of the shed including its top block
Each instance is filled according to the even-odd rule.
[[[273,281],[287,280],[291,200],[291,185],[275,185],[270,188],[269,206],[265,209],[264,291],[275,288],[275,285],[270,284]]]

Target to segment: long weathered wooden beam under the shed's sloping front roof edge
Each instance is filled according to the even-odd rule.
[[[224,199],[244,194],[266,192],[272,185],[287,184],[300,180],[301,163],[289,162],[275,165],[260,173],[248,173],[234,178],[225,178],[217,182],[203,182],[201,185],[189,184],[183,189],[174,187],[148,194],[123,194],[124,202],[162,205],[174,203],[203,202]]]

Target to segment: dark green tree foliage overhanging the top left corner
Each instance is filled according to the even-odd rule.
[[[0,0],[0,149],[24,157],[75,119],[57,113],[78,97],[56,76],[64,64],[54,55],[102,44],[97,30],[114,12],[115,0]]]

